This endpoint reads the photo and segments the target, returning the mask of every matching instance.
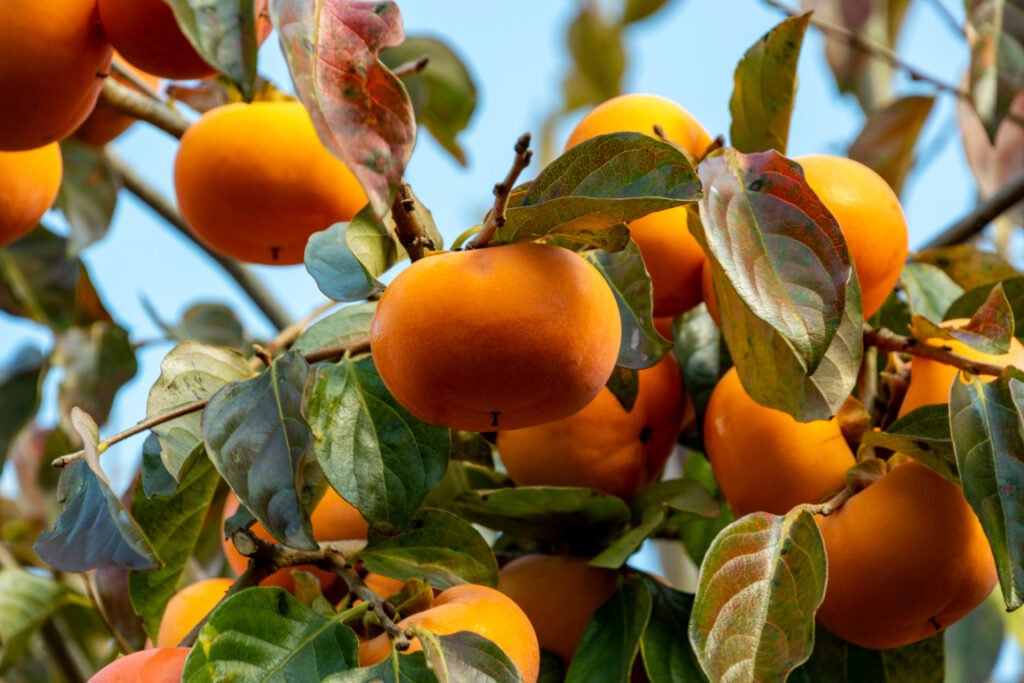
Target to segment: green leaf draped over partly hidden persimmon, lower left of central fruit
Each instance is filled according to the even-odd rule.
[[[443,510],[421,510],[397,536],[371,530],[358,557],[375,573],[402,581],[423,579],[439,589],[459,584],[498,586],[498,562],[487,542]]]

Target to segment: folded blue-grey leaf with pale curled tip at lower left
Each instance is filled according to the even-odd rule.
[[[84,457],[60,473],[57,501],[63,508],[53,530],[40,533],[33,548],[60,571],[159,567],[153,545],[99,467],[96,423],[78,409],[72,410],[71,423],[84,443]]]

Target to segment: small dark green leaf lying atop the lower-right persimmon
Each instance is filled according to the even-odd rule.
[[[861,446],[881,446],[909,456],[944,478],[959,483],[956,456],[949,435],[949,407],[923,405],[904,415],[884,432],[867,431]]]

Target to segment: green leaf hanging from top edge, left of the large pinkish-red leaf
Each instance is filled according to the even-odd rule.
[[[256,93],[255,0],[168,0],[203,60],[230,79],[246,101]]]

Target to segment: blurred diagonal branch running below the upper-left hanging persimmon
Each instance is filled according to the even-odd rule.
[[[202,242],[199,242],[191,230],[188,229],[184,219],[181,218],[181,214],[178,213],[178,210],[170,200],[161,195],[155,187],[142,179],[131,166],[110,150],[106,151],[106,157],[114,172],[124,182],[125,189],[146,204],[157,215],[166,220],[171,227],[175,228],[216,261],[231,280],[239,285],[242,291],[249,296],[274,328],[284,330],[291,324],[288,311],[285,310],[285,307],[274,298],[273,294],[260,282],[259,278],[252,270],[233,259],[221,256]]]

